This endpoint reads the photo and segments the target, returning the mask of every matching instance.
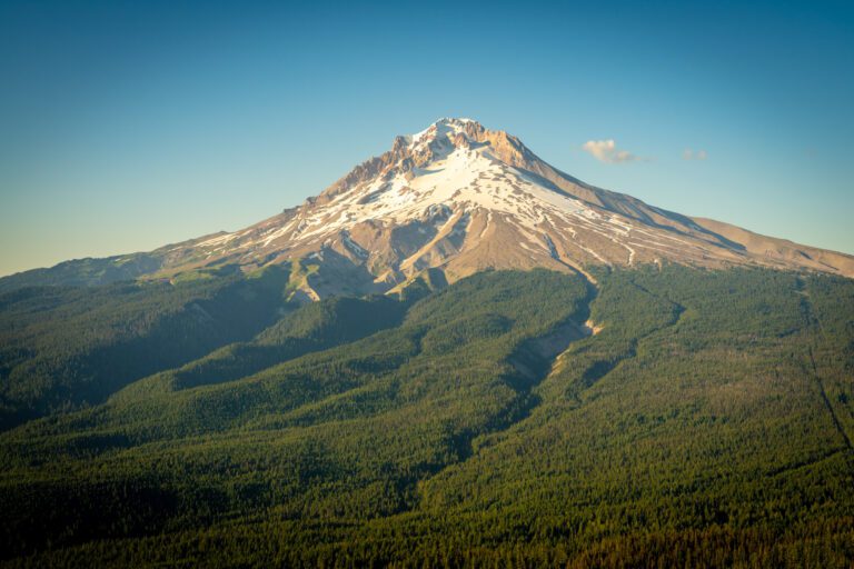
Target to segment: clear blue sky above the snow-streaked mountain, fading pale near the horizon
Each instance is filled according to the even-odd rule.
[[[854,253],[854,4],[555,4],[6,0],[0,274],[239,229],[445,116]]]

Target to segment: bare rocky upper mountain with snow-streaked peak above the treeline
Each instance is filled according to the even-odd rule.
[[[495,269],[664,261],[854,276],[854,257],[648,206],[586,184],[519,139],[443,119],[394,139],[302,206],[245,230],[161,250],[159,276],[225,262],[247,269],[301,259],[309,297],[385,291],[426,269],[449,281]]]

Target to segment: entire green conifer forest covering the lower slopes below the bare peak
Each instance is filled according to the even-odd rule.
[[[6,292],[0,562],[851,567],[854,281],[594,276]]]

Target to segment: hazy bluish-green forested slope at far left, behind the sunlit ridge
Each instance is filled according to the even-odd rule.
[[[100,403],[129,382],[248,339],[286,306],[287,268],[177,282],[24,287],[0,295],[0,429]]]

